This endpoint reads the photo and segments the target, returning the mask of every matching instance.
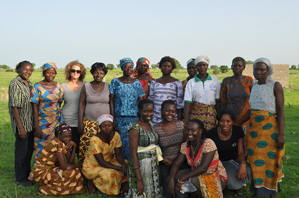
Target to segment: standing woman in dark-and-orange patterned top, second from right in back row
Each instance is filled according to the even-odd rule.
[[[236,57],[232,62],[234,75],[223,79],[220,91],[221,108],[228,108],[235,113],[235,124],[240,126],[249,126],[249,120],[239,124],[239,120],[250,109],[249,96],[253,84],[250,76],[243,76],[246,62],[242,57]],[[242,121],[242,120],[241,120]]]

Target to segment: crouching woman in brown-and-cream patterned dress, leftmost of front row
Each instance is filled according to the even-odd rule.
[[[79,169],[82,164],[74,164],[76,143],[71,141],[71,127],[67,124],[57,126],[55,136],[40,152],[28,179],[42,185],[40,195],[83,193],[84,179]]]

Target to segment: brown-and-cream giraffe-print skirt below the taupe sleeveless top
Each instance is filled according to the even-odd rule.
[[[90,138],[100,131],[98,123],[83,117],[83,134],[80,137],[78,160],[83,163],[90,144]]]

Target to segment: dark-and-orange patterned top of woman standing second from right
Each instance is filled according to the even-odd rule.
[[[241,119],[250,109],[249,96],[253,86],[253,79],[245,76],[241,83],[234,83],[232,77],[223,79],[220,91],[220,103],[235,113],[236,121]],[[249,126],[250,120],[241,126]]]

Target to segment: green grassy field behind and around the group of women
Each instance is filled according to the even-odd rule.
[[[60,83],[65,82],[63,70],[58,70],[55,81]],[[151,70],[154,78],[159,78],[161,73],[159,70]],[[212,71],[208,71],[212,74]],[[14,183],[14,135],[11,131],[10,117],[8,114],[8,85],[15,78],[15,72],[5,72],[0,70],[0,198],[34,198],[42,197],[37,194],[39,185],[35,184],[32,187],[16,186]],[[106,82],[109,82],[116,77],[122,76],[120,69],[109,71],[106,75]],[[179,80],[184,80],[187,75],[187,70],[179,70],[173,75]],[[223,78],[232,76],[232,71],[229,70],[225,75],[216,75],[220,82]],[[35,70],[30,77],[34,84],[43,78],[41,70]],[[92,81],[92,75],[87,73],[85,81]],[[289,88],[284,89],[285,92],[285,139],[286,139],[286,154],[290,156],[290,160],[284,161],[285,178],[282,182],[282,192],[278,194],[278,198],[299,198],[299,71],[290,70]],[[32,160],[33,161],[33,160]],[[244,188],[244,196],[248,197],[251,193]],[[64,196],[64,198],[85,198],[88,194],[85,192],[81,195]],[[224,191],[225,198],[231,198],[234,193],[230,190]],[[104,194],[93,195],[91,197],[100,198],[117,198],[117,196],[106,196]]]

